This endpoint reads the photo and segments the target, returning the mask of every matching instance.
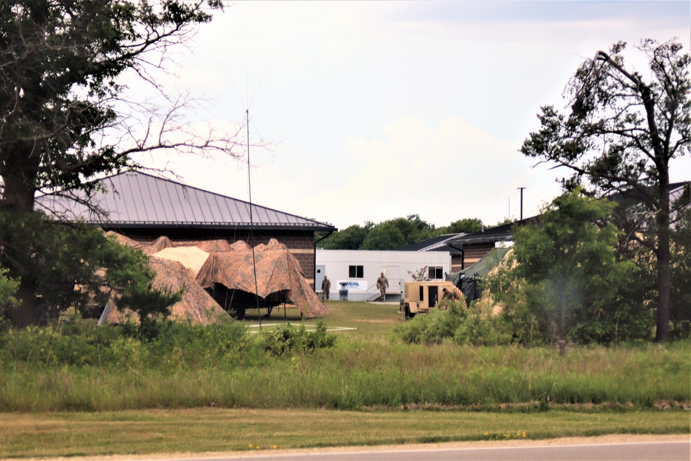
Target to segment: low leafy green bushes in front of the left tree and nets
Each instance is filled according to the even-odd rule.
[[[53,366],[203,368],[236,366],[262,356],[237,322],[207,326],[158,322],[158,335],[145,341],[133,323],[95,326],[77,321],[48,327],[10,329],[0,334],[0,363]]]

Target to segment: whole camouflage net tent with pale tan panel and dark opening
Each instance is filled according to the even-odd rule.
[[[261,308],[268,309],[281,303],[294,304],[307,318],[328,312],[305,279],[299,261],[274,239],[268,245],[254,247],[255,285],[252,247],[245,242],[173,243],[160,237],[152,243],[141,243],[115,232],[107,235],[149,256],[149,265],[156,273],[155,288],[184,288],[182,301],[171,307],[173,319],[206,324],[227,317],[227,310],[239,314],[256,308],[257,301]],[[112,310],[108,320],[117,323],[128,314],[131,312]]]

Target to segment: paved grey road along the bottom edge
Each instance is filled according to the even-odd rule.
[[[153,459],[153,458],[152,458]],[[484,446],[462,448],[372,449],[370,451],[305,451],[246,453],[200,458],[155,458],[157,461],[689,461],[691,441],[592,443],[574,445]]]

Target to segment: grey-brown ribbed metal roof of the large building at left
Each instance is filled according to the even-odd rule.
[[[128,171],[98,180],[104,186],[90,203],[100,215],[77,200],[43,196],[37,199],[54,216],[84,219],[101,227],[196,227],[205,229],[250,227],[249,203],[157,178]],[[319,221],[252,204],[256,229],[294,229],[333,232],[336,227]]]

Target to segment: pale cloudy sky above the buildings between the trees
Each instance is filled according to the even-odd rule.
[[[519,152],[540,106],[562,109],[597,50],[675,37],[688,51],[691,1],[237,1],[160,83],[197,98],[198,129],[235,133],[249,111],[249,174],[218,154],[142,162],[339,229],[411,214],[490,226],[520,217],[519,187],[533,216],[569,176]],[[691,180],[691,159],[671,176]]]

